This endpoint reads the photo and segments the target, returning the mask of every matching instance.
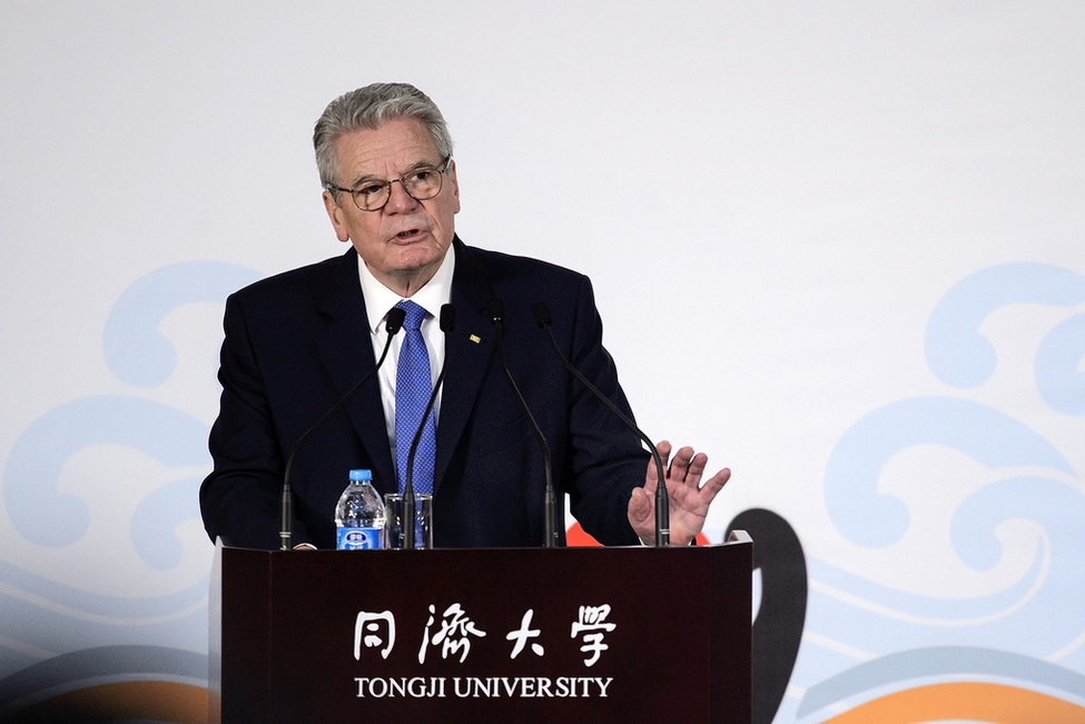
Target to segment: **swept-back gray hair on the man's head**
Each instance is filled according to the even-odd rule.
[[[441,160],[452,156],[452,136],[430,97],[410,83],[373,83],[339,96],[324,109],[313,130],[320,184],[338,185],[339,136],[358,129],[375,130],[397,118],[414,118],[430,131]]]

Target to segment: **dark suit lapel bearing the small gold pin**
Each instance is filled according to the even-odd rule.
[[[454,244],[456,270],[452,280],[452,304],[456,308],[456,327],[447,341],[447,371],[441,394],[434,465],[437,486],[444,479],[453,453],[463,437],[494,354],[494,327],[484,314],[486,304],[493,297],[493,289],[471,249],[458,237]]]

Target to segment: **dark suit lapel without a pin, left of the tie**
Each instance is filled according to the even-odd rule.
[[[327,315],[329,323],[317,335],[317,346],[338,397],[346,395],[376,365],[357,265],[354,249],[343,255],[320,300],[320,310]],[[384,482],[383,487],[394,490],[395,468],[388,447],[379,380],[371,378],[341,414],[351,418],[362,445],[369,454],[374,478]]]

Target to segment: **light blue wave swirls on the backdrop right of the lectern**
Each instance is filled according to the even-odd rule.
[[[1035,383],[1055,424],[1085,416],[1085,375],[1078,371],[1085,315],[1073,310],[1083,303],[1085,276],[1067,269],[1043,264],[980,269],[950,288],[931,311],[924,344],[929,369],[950,387],[975,390],[998,365],[995,347],[979,333],[993,311],[1022,304],[1067,308],[1067,318],[1038,345],[1035,379],[1026,381]],[[879,476],[902,450],[941,446],[995,474],[953,510],[945,532],[953,553],[973,571],[994,569],[1006,555],[997,532],[1013,522],[1016,540],[1022,530],[1035,536],[1027,572],[995,593],[938,597],[895,589],[808,557],[807,627],[792,676],[799,701],[796,706],[792,696],[777,721],[820,721],[870,697],[963,680],[993,678],[1071,702],[1085,700],[1085,608],[1076,605],[1085,599],[1081,474],[1034,427],[975,401],[976,396],[901,399],[856,421],[829,455],[826,508],[835,528],[857,546],[884,549],[900,542],[913,532],[913,512],[908,502],[879,492]],[[915,566],[915,575],[929,564],[904,565]]]

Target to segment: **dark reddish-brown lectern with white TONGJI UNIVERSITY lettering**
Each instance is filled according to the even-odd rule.
[[[749,724],[753,544],[219,545],[210,721]]]

